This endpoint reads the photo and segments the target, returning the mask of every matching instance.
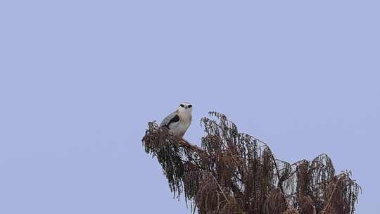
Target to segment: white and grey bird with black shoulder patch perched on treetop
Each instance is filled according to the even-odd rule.
[[[183,137],[191,124],[192,107],[191,103],[181,103],[175,112],[163,119],[160,127],[167,127],[170,133],[177,137]]]

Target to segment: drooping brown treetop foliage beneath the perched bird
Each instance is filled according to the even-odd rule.
[[[206,132],[201,148],[156,122],[148,122],[142,139],[146,153],[162,166],[170,190],[178,198],[184,194],[194,212],[355,213],[360,186],[350,172],[336,175],[326,154],[287,163],[264,142],[238,132],[225,115],[209,114],[201,120]]]

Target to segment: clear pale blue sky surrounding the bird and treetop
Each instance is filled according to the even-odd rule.
[[[0,213],[190,213],[146,122],[220,111],[380,213],[380,1],[1,1]]]

